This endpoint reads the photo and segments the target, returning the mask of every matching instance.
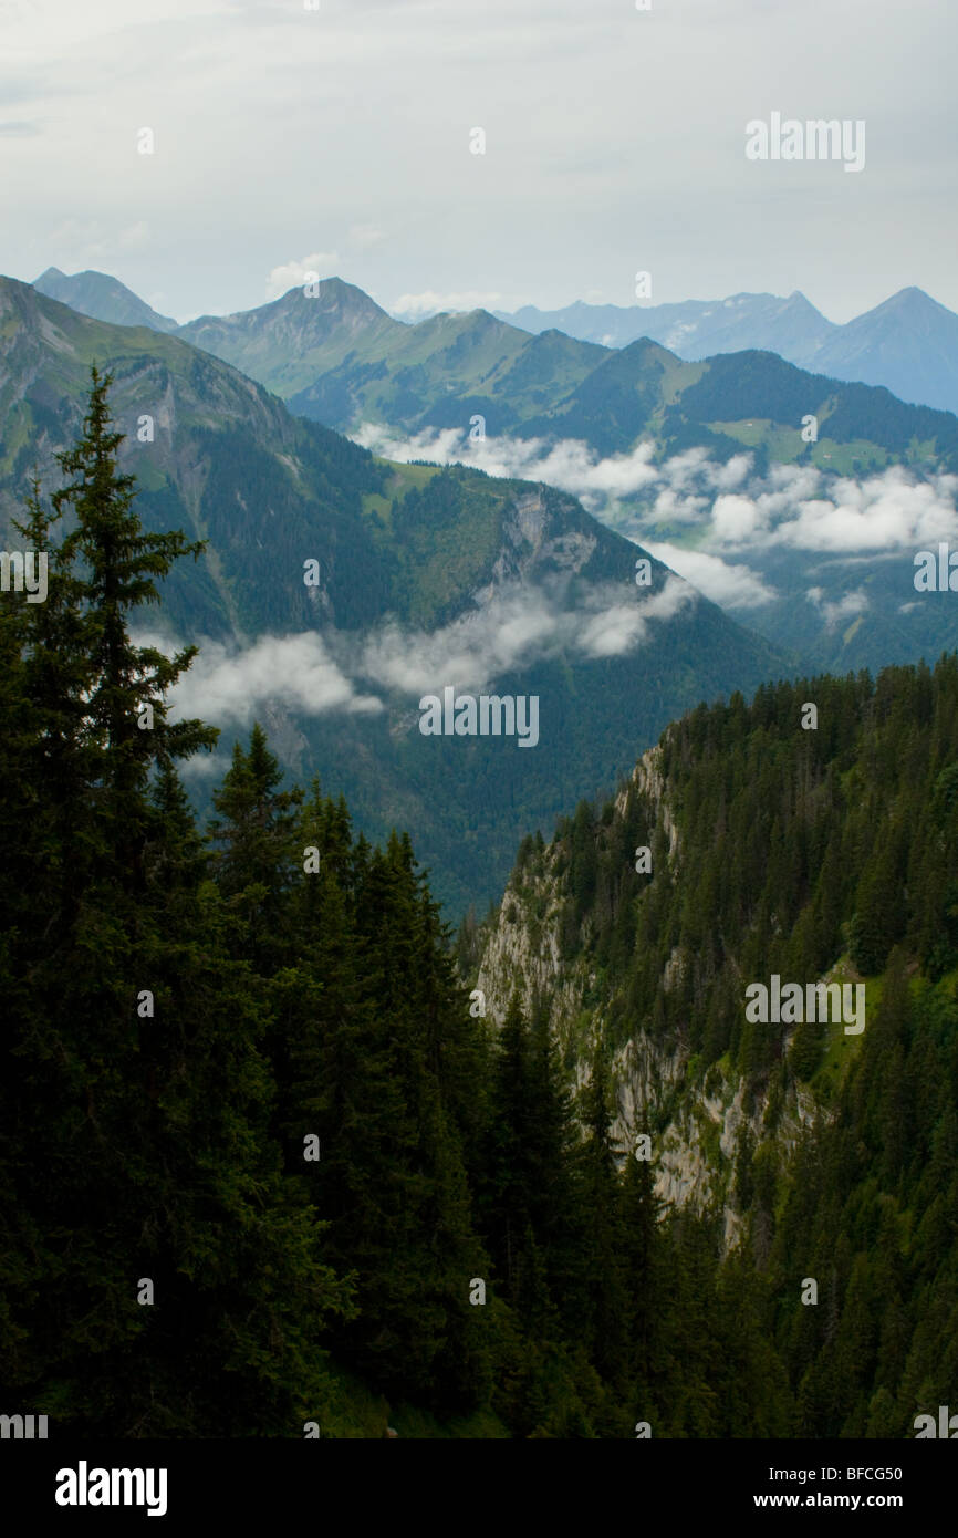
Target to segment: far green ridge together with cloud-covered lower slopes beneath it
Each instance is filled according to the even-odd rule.
[[[701,306],[718,311],[710,343],[732,345],[737,325],[738,340],[752,326],[767,343],[817,314],[804,300],[741,298]],[[958,640],[949,603],[913,588],[915,555],[958,543],[950,412],[767,351],[686,361],[649,338],[532,335],[484,311],[406,325],[340,278],[178,335],[392,458],[460,460],[584,498],[809,666],[881,667]],[[818,328],[823,355],[835,335]],[[916,357],[923,348],[916,332]]]

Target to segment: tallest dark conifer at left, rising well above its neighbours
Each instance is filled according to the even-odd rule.
[[[37,492],[28,508],[43,541],[75,514],[49,608],[5,606],[2,624],[26,775],[17,858],[34,860],[32,883],[0,887],[0,964],[18,980],[0,1064],[3,1378],[85,1432],[294,1432],[348,1295],[283,1187],[258,990],[229,957],[172,772],[217,735],[168,721],[192,651],[129,638],[154,578],[195,548],[141,534],[108,384],[94,372],[54,518]]]

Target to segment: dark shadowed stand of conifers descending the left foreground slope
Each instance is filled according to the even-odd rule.
[[[601,1078],[578,1135],[541,1015],[474,1017],[407,838],[281,789],[258,729],[197,831],[194,654],[128,626],[198,551],[141,529],[117,448],[100,380],[20,520],[46,601],[0,606],[5,1403],[114,1436],[695,1424],[709,1330],[658,1278],[704,1230],[618,1177]]]

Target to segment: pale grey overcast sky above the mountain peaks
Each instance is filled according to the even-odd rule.
[[[0,0],[0,271],[178,320],[303,266],[411,315],[630,305],[640,269],[958,309],[955,0],[306,3]],[[747,160],[772,112],[864,120],[864,169]]]

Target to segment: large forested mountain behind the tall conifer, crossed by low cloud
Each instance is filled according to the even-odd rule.
[[[94,361],[114,375],[145,528],[209,544],[165,584],[171,631],[203,643],[183,709],[226,741],[258,715],[284,764],[346,791],[371,837],[411,829],[454,910],[501,891],[518,837],[614,784],[637,741],[790,666],[658,560],[638,588],[644,552],[566,492],[383,461],[180,337],[5,278],[8,531],[34,472],[58,483]],[[423,695],[484,684],[538,698],[537,751],[418,731]]]

